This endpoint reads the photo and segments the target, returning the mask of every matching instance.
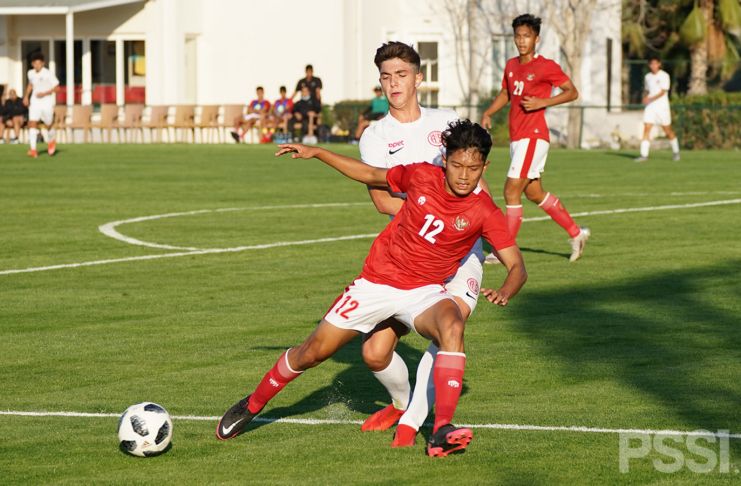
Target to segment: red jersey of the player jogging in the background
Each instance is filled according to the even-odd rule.
[[[556,62],[536,54],[527,64],[520,64],[519,57],[507,61],[504,67],[502,89],[509,93],[509,139],[512,142],[523,138],[540,138],[550,141],[548,124],[545,121],[545,108],[525,111],[522,98],[550,98],[554,86],[561,86],[569,80]]]

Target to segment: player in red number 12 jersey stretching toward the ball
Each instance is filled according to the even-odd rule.
[[[463,385],[464,320],[443,282],[483,236],[499,252],[508,273],[498,290],[482,289],[490,302],[506,305],[527,279],[522,255],[491,197],[479,186],[491,149],[489,134],[470,121],[443,134],[446,166],[420,163],[382,169],[318,147],[280,145],[276,155],[316,157],[351,179],[406,193],[407,202],[371,246],[363,271],[325,314],[303,344],[283,353],[255,391],[219,421],[219,439],[236,437],[267,402],[304,370],[317,366],[360,333],[390,317],[433,340],[435,423],[430,456],[465,449],[472,432],[450,424]]]

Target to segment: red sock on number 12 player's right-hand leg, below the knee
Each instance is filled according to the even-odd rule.
[[[435,426],[437,432],[441,426],[453,420],[455,407],[463,389],[463,370],[466,367],[464,353],[438,351],[435,366],[432,370],[435,382]]]

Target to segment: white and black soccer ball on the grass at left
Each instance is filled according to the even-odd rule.
[[[121,450],[140,457],[161,454],[172,440],[172,420],[162,406],[143,402],[126,409],[118,421]]]

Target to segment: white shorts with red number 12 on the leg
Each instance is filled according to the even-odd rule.
[[[337,298],[324,320],[342,329],[369,333],[379,323],[395,317],[414,329],[414,319],[444,299],[453,297],[442,285],[402,290],[358,278]]]

